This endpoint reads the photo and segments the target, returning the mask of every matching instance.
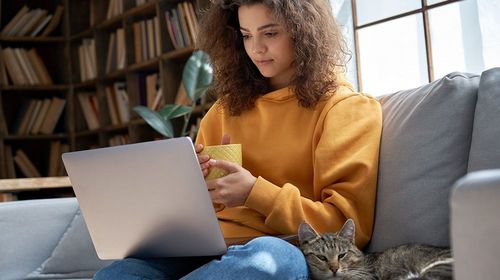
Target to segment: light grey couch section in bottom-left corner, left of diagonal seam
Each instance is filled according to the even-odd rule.
[[[74,198],[0,203],[2,279],[24,278],[50,257],[77,210]]]

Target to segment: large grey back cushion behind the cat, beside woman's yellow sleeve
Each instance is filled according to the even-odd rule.
[[[450,190],[467,171],[479,76],[451,73],[380,98],[377,205],[368,251],[449,246]]]

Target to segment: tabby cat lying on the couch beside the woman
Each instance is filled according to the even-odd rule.
[[[308,223],[299,227],[299,246],[312,279],[453,279],[449,249],[406,244],[381,253],[361,252],[354,245],[354,222],[336,233],[319,235]]]

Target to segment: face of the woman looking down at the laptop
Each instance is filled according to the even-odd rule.
[[[273,89],[288,86],[295,74],[295,53],[287,30],[264,4],[241,6],[238,19],[245,51],[260,73]]]

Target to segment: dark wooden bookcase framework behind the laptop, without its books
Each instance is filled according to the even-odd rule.
[[[164,100],[168,102],[175,100],[180,79],[182,78],[183,65],[194,49],[191,47],[174,49],[166,30],[165,11],[177,6],[177,3],[180,1],[198,3],[200,0],[150,0],[141,6],[135,7],[133,7],[135,1],[123,1],[125,8],[123,13],[110,19],[105,19],[109,1],[0,0],[0,18],[2,18],[0,30],[5,27],[24,5],[28,5],[30,9],[46,9],[48,13],[54,13],[57,5],[63,5],[64,7],[60,25],[49,36],[0,36],[0,44],[2,44],[3,48],[7,46],[23,49],[35,48],[54,82],[54,85],[12,85],[10,73],[7,73],[9,77],[8,83],[11,84],[0,85],[0,192],[45,187],[57,188],[62,185],[69,186],[67,177],[56,179],[6,179],[8,176],[12,176],[10,175],[12,173],[6,170],[8,168],[4,168],[6,163],[8,163],[8,151],[15,154],[18,150],[22,150],[32,159],[34,165],[40,169],[39,171],[43,173],[41,175],[48,176],[48,159],[53,143],[60,142],[61,146],[66,145],[70,151],[76,151],[109,146],[109,139],[121,135],[127,135],[131,143],[151,141],[162,137],[142,118],[139,118],[133,111],[133,108],[144,103],[144,92],[146,91],[145,79],[148,75],[158,75],[155,78],[157,79],[157,84],[154,90],[158,91],[161,88]],[[204,1],[208,2],[209,0],[201,0],[201,2]],[[91,14],[94,18],[93,23],[91,23]],[[153,28],[157,28],[156,26],[158,26],[161,30],[153,34],[155,36],[159,34],[159,37],[154,37],[154,48],[146,47],[147,52],[154,49],[156,57],[145,61],[141,61],[143,60],[142,57],[136,60],[136,45],[139,44],[144,47],[144,43],[134,41],[136,38],[141,38],[134,36],[134,24],[148,21],[157,16],[159,24],[155,24]],[[146,27],[149,28],[147,32],[151,30],[150,22],[146,23],[149,24]],[[106,73],[110,34],[116,34],[117,29],[123,29],[124,31],[126,65],[123,69]],[[141,32],[143,32],[142,30]],[[92,41],[85,39],[91,39]],[[92,47],[95,48],[96,69],[89,68],[87,67],[88,65],[80,67],[79,52],[81,52],[80,46],[84,42],[85,44],[90,42],[89,44],[92,44]],[[147,44],[151,44],[151,42],[147,41]],[[117,53],[116,50],[114,52]],[[143,53],[139,52],[139,54]],[[93,52],[90,54],[85,53],[84,55],[86,58],[93,56]],[[143,55],[143,57],[152,56],[151,54]],[[4,56],[0,56],[0,67],[4,66],[3,59]],[[141,62],[135,63],[135,61]],[[96,74],[96,77],[91,80],[81,81],[85,76],[90,76],[81,75],[80,71],[89,69],[91,70],[90,73]],[[23,68],[21,70],[24,71],[25,75],[28,75],[28,70],[23,70]],[[0,76],[0,78],[2,77]],[[116,118],[116,114],[110,114],[110,110],[113,110],[110,108],[113,108],[113,106],[116,107],[116,104],[108,104],[106,93],[107,89],[113,87],[116,82],[121,82],[126,86],[125,99],[128,99],[129,103],[126,109],[128,109],[131,119],[124,124],[112,125],[112,120],[116,123],[116,119],[112,119],[112,117]],[[89,130],[89,126],[85,120],[80,100],[83,95],[87,94],[91,95],[92,98],[95,96],[95,100],[92,101],[92,110],[99,112],[98,129]],[[64,98],[66,100],[63,113],[53,134],[7,134],[7,130],[10,132],[23,131],[18,125],[25,118],[23,116],[28,115],[22,109],[27,107],[26,104],[33,103],[33,100],[45,100],[53,97]],[[195,116],[193,116],[192,122],[196,122],[196,117],[204,114],[210,105],[197,106],[193,112]],[[16,166],[12,159],[10,159],[9,163],[14,166],[16,176],[24,176],[21,169]]]

